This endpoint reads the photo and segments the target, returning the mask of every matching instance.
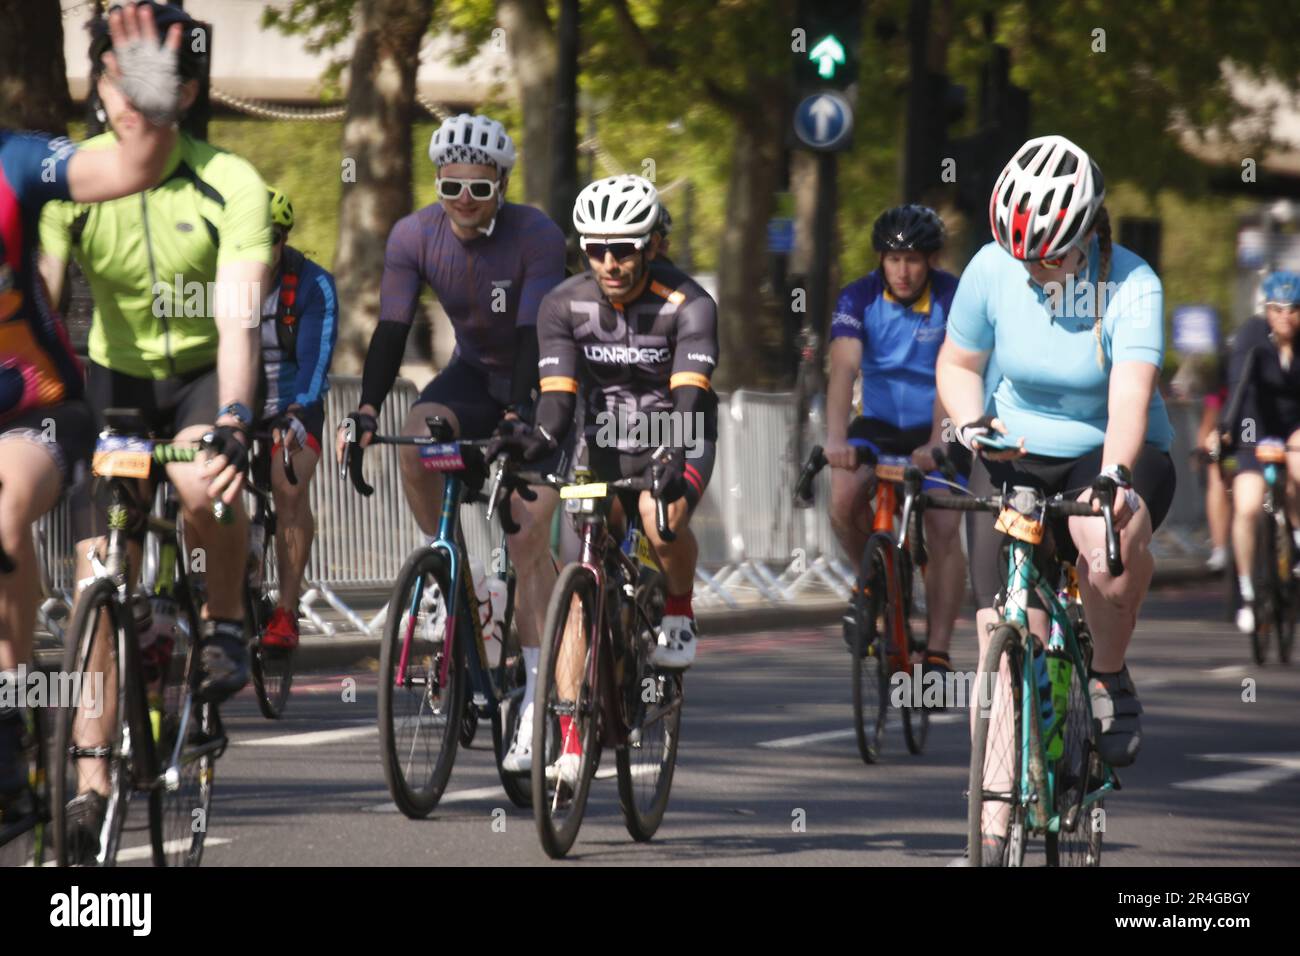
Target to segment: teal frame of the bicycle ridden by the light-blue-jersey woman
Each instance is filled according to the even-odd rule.
[[[1022,633],[1030,633],[1030,617],[1028,617],[1028,597],[1030,592],[1035,592],[1043,606],[1046,609],[1049,619],[1049,637],[1046,649],[1056,652],[1065,652],[1069,656],[1070,663],[1074,667],[1074,674],[1071,674],[1071,680],[1076,679],[1079,674],[1087,674],[1088,662],[1084,659],[1083,648],[1079,644],[1079,637],[1075,633],[1074,622],[1070,620],[1070,615],[1066,613],[1065,605],[1062,604],[1062,594],[1066,592],[1057,592],[1046,581],[1043,580],[1043,575],[1039,572],[1037,566],[1034,563],[1034,546],[1011,538],[1010,541],[1010,555],[1008,558],[1006,568],[1006,607],[1002,614],[1002,622],[1017,627]],[[1032,649],[1026,648],[1026,666],[1022,667],[1020,672],[1020,780],[1019,780],[1019,799],[1020,803],[1027,808],[1028,813],[1026,819],[1031,830],[1040,832],[1060,832],[1061,831],[1061,816],[1054,813],[1056,805],[1056,761],[1048,758],[1046,741],[1050,740],[1050,734],[1065,734],[1066,719],[1069,713],[1056,714],[1053,713],[1053,726],[1045,727],[1043,724],[1043,710],[1039,700],[1039,684],[1035,679]],[[1092,724],[1092,701],[1088,695],[1080,695],[1083,698],[1083,706],[1087,714],[1088,726]],[[1069,706],[1069,695],[1066,696]],[[1030,780],[1030,748],[1031,748],[1031,735],[1030,735],[1030,721],[1039,721],[1039,747],[1041,753],[1041,763],[1045,771],[1045,791],[1048,799],[1046,810],[1036,813],[1036,801],[1034,800],[1034,784]],[[1102,762],[1105,770],[1101,786],[1084,793],[1083,805],[1080,810],[1096,804],[1102,800],[1108,791],[1115,790],[1115,775],[1114,770]]]

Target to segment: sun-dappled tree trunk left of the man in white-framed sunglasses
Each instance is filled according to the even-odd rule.
[[[411,212],[411,120],[433,0],[359,0],[343,121],[334,277],[343,303],[334,369],[356,373],[380,315],[389,230]]]

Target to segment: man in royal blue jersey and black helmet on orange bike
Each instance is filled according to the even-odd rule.
[[[944,224],[924,206],[887,209],[871,230],[880,254],[874,272],[848,285],[831,319],[826,459],[831,473],[831,524],[857,559],[871,535],[874,470],[858,467],[852,440],[868,440],[887,454],[911,455],[932,471],[930,450],[942,444],[944,412],[935,394],[935,362],[952,312],[957,277],[939,268]],[[862,373],[862,415],[849,424],[853,382]],[[954,445],[958,471],[970,473],[970,453]],[[939,489],[946,490],[946,489]],[[948,649],[965,593],[965,562],[957,511],[926,514],[933,542],[926,571],[927,648],[923,672],[952,670]]]

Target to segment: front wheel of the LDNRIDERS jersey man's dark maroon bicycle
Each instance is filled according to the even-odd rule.
[[[533,821],[537,825],[537,836],[546,855],[555,860],[567,855],[577,839],[599,758],[599,722],[603,705],[599,669],[594,669],[594,683],[589,682],[589,675],[593,672],[589,666],[590,656],[599,653],[597,641],[602,639],[602,622],[597,618],[598,607],[599,588],[595,576],[588,568],[575,563],[560,571],[546,607],[546,624],[542,628],[542,653],[537,666],[541,705],[534,705],[532,769]],[[566,630],[575,611],[577,620],[573,623],[586,635],[586,649],[582,652],[581,676],[575,700],[564,700],[555,682],[560,652],[566,644]],[[573,724],[577,726],[577,740],[582,748],[572,787],[558,777],[552,784],[547,774],[552,757],[558,760],[563,753],[562,717],[571,718],[571,732],[575,732]]]

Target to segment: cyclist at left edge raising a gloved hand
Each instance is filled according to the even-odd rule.
[[[53,200],[101,202],[157,181],[174,139],[179,30],[160,52],[152,10],[126,8],[108,20],[120,56],[107,82],[134,91],[135,114],[109,150],[78,150],[65,139],[0,127],[0,548],[13,563],[0,572],[0,689],[18,691],[31,663],[39,570],[32,524],[58,501],[91,453],[82,368],[35,263],[42,207]],[[133,100],[135,103],[136,100]],[[25,788],[18,695],[0,700],[0,825]]]

